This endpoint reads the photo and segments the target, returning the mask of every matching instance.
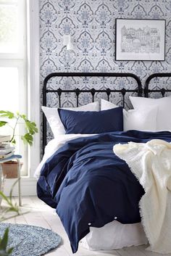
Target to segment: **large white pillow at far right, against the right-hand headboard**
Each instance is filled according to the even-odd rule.
[[[157,131],[171,130],[171,96],[159,99],[130,96],[130,102],[135,110],[147,110],[149,107],[158,107]]]

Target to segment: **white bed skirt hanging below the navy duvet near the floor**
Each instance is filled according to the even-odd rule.
[[[91,227],[80,246],[90,250],[111,250],[147,243],[141,223],[122,224],[114,220],[102,228]]]

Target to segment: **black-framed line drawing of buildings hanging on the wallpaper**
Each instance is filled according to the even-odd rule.
[[[116,19],[116,60],[165,60],[165,20]]]

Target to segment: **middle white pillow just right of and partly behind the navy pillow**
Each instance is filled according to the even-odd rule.
[[[117,105],[101,99],[101,110],[109,110],[118,107]],[[123,126],[124,131],[156,131],[157,107],[146,110],[124,110]]]

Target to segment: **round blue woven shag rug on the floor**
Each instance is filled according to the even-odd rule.
[[[61,237],[53,231],[38,226],[0,223],[0,236],[9,228],[8,247],[13,247],[12,256],[41,256],[55,249]]]

